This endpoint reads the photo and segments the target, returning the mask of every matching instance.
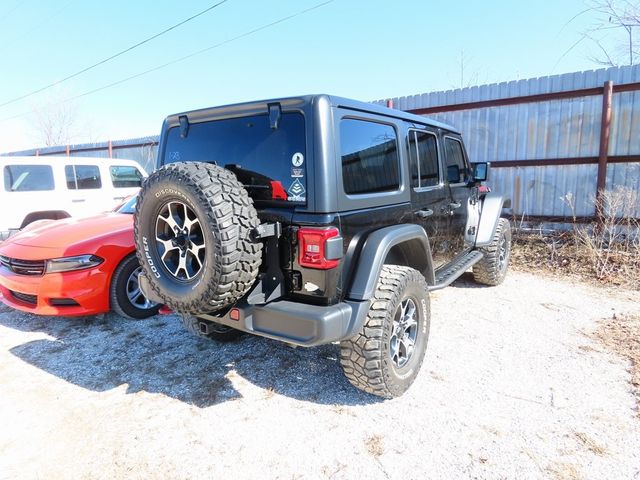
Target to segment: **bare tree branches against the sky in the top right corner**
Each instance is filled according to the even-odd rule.
[[[600,65],[634,65],[640,53],[640,0],[589,0],[582,13],[594,15],[594,24],[583,32],[583,40],[598,53],[590,59]]]

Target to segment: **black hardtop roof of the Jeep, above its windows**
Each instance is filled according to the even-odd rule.
[[[246,113],[255,112],[255,110],[257,109],[260,109],[260,110],[266,109],[267,104],[269,103],[280,103],[283,107],[286,108],[286,107],[301,107],[304,104],[314,104],[319,101],[326,101],[331,106],[334,106],[334,107],[344,107],[344,108],[349,108],[353,110],[360,110],[362,112],[376,113],[376,114],[384,115],[387,117],[399,118],[402,120],[406,120],[408,122],[421,123],[421,124],[429,125],[436,128],[442,128],[444,130],[454,132],[454,133],[460,133],[458,129],[452,127],[451,125],[438,122],[428,117],[414,115],[413,113],[384,107],[382,105],[378,105],[375,103],[361,102],[358,100],[352,100],[350,98],[337,97],[337,96],[326,95],[326,94],[272,98],[269,100],[256,100],[251,102],[242,102],[242,103],[235,103],[235,104],[229,104],[229,105],[220,105],[216,107],[202,108],[198,110],[191,110],[187,112],[181,112],[181,113],[169,115],[166,119],[166,122],[168,124],[176,124],[178,123],[178,117],[182,115],[186,115],[190,121],[198,121],[198,120],[205,120],[213,112],[215,112],[216,115],[218,114],[237,115],[237,114],[242,114],[243,112],[246,112]]]

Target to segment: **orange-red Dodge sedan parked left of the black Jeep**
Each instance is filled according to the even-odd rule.
[[[0,243],[0,299],[38,315],[158,313],[138,285],[131,198],[115,212],[42,221]]]

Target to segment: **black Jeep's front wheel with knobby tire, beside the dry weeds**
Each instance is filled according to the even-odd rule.
[[[482,285],[500,285],[507,275],[511,257],[511,224],[506,218],[498,221],[491,244],[480,251],[482,260],[473,266],[473,279]]]

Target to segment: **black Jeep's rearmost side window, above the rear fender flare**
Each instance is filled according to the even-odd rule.
[[[345,193],[388,192],[400,187],[398,139],[391,125],[343,119],[340,154]]]

